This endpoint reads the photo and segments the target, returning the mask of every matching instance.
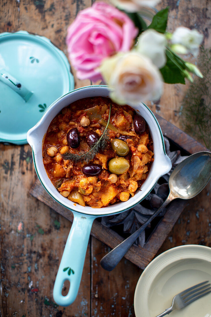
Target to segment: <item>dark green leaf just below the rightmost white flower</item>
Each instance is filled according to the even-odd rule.
[[[166,65],[160,69],[164,82],[167,84],[185,84],[182,62],[178,61],[177,57],[168,50],[166,50],[166,59]]]

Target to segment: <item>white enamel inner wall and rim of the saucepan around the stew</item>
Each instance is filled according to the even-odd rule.
[[[107,215],[118,213],[120,211],[127,210],[139,203],[144,197],[152,190],[157,180],[171,169],[171,162],[169,157],[166,155],[163,147],[163,136],[159,124],[154,117],[153,113],[144,104],[139,104],[137,107],[133,107],[138,114],[142,115],[146,120],[150,134],[153,140],[154,147],[154,162],[151,165],[150,172],[141,187],[141,191],[137,191],[134,197],[131,197],[127,202],[120,202],[105,208],[91,208],[89,206],[80,206],[63,197],[51,183],[48,175],[45,171],[42,161],[42,141],[45,133],[48,129],[50,122],[54,117],[61,111],[62,108],[67,107],[72,102],[86,98],[86,97],[108,97],[109,91],[106,86],[88,86],[76,89],[63,97],[56,100],[44,113],[42,119],[27,133],[27,141],[32,147],[33,158],[35,163],[35,169],[48,193],[60,204],[65,207],[75,210],[84,214],[94,215],[96,217],[100,215]]]

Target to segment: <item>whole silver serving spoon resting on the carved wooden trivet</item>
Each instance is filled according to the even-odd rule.
[[[148,226],[148,224],[159,215],[161,211],[176,198],[190,199],[195,197],[207,185],[211,178],[211,153],[198,152],[190,155],[178,164],[169,177],[169,196],[158,208],[158,210],[131,236],[120,243],[116,248],[106,254],[100,261],[101,266],[112,271],[122,259],[131,245]]]

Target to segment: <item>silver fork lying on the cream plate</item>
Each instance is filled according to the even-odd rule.
[[[193,301],[196,301],[197,299],[201,298],[204,295],[207,295],[211,292],[211,287],[209,281],[205,281],[199,284],[196,284],[190,288],[185,289],[181,293],[174,296],[172,300],[171,307],[167,308],[162,314],[157,315],[156,317],[163,317],[174,309],[181,309]]]

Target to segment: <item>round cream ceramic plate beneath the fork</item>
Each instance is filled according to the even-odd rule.
[[[155,317],[171,306],[174,295],[200,282],[211,282],[211,248],[183,245],[157,256],[140,276],[134,295],[136,317]],[[211,293],[169,317],[211,317]]]

